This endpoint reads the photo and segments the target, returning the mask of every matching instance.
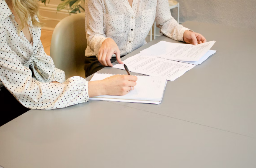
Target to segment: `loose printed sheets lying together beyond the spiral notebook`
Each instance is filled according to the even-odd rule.
[[[129,71],[149,76],[162,76],[173,81],[214,54],[215,50],[209,50],[214,43],[215,41],[210,41],[191,45],[160,41],[123,62]],[[113,67],[124,70],[122,64]]]

